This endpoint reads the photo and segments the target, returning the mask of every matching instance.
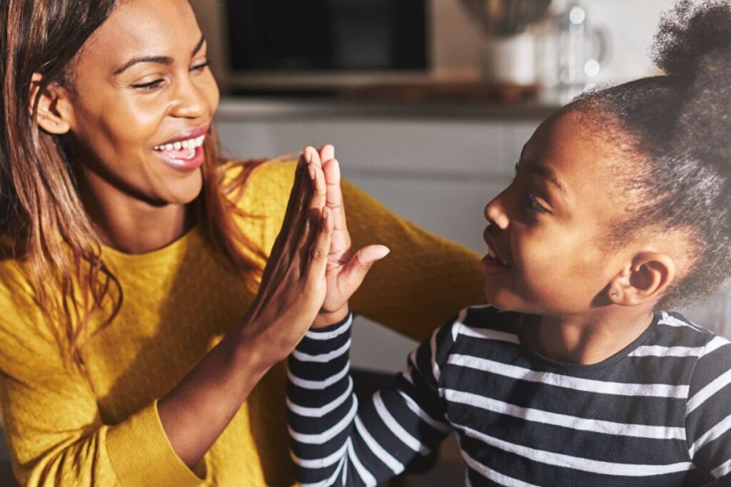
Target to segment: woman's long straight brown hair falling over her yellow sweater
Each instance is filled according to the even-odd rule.
[[[35,122],[41,94],[67,85],[77,54],[118,0],[0,0],[0,235],[6,258],[23,262],[61,353],[88,376],[85,345],[121,307],[118,280],[104,264],[94,223],[81,202],[64,138]],[[30,99],[31,77],[42,75]],[[240,269],[260,269],[260,250],[235,224],[230,193],[255,164],[224,188],[213,129],[205,140],[199,224]],[[240,191],[237,191],[240,195]],[[101,326],[90,330],[92,317]]]

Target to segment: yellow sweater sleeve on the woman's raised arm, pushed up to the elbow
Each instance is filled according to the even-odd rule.
[[[3,276],[4,279],[7,276]],[[7,286],[7,280],[4,280]],[[0,296],[0,399],[15,477],[25,486],[196,486],[156,402],[105,421],[88,380],[64,364],[23,290]]]

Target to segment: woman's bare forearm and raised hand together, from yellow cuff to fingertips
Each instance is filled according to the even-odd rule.
[[[173,450],[191,468],[261,377],[295,349],[322,309],[334,221],[325,191],[319,157],[313,161],[306,153],[246,318],[157,404]]]

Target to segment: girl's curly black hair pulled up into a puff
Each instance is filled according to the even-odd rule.
[[[566,110],[610,115],[640,161],[619,171],[632,203],[618,233],[677,229],[694,242],[692,269],[656,305],[669,310],[731,276],[731,1],[679,1],[651,53],[664,75],[583,93]]]

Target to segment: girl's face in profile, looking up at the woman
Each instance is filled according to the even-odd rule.
[[[604,238],[626,207],[610,180],[620,153],[588,136],[586,116],[545,120],[524,147],[515,180],[485,207],[490,252],[482,271],[496,307],[586,312],[621,266],[623,256],[610,253]]]

